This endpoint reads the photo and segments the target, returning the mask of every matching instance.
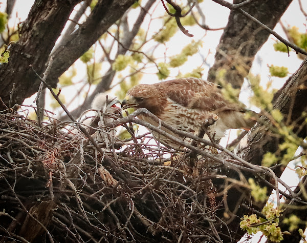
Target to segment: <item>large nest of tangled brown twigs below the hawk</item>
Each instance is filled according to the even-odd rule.
[[[66,128],[0,114],[2,241],[220,241],[218,165],[150,134],[98,150]]]

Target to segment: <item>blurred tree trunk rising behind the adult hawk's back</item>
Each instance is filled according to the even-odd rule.
[[[235,0],[234,4],[243,2]],[[281,15],[292,0],[256,0],[242,7],[244,11],[274,29]],[[254,57],[267,41],[270,33],[243,16],[237,10],[231,10],[228,24],[216,48],[214,65],[208,73],[210,82],[218,83],[218,71],[225,70],[225,80],[234,88],[240,89],[244,77],[248,74]]]

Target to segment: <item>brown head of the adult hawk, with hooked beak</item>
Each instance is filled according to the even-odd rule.
[[[163,104],[167,101],[165,93],[152,85],[137,85],[128,90],[122,102],[122,109],[146,108],[151,113],[159,115],[163,112]]]

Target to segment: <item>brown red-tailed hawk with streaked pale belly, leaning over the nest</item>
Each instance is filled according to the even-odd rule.
[[[208,127],[215,138],[223,137],[227,129],[251,128],[255,123],[255,120],[245,119],[242,104],[229,102],[223,97],[220,86],[200,78],[179,78],[152,85],[137,85],[128,90],[122,102],[123,109],[129,107],[135,110],[146,108],[172,127],[196,135],[205,120],[217,115],[216,122]],[[145,115],[139,115],[139,118],[158,126]],[[158,137],[155,132],[153,135]],[[160,136],[161,139],[173,145],[165,137]]]

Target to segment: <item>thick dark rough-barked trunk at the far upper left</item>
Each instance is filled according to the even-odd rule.
[[[80,0],[35,1],[20,31],[20,38],[10,48],[9,63],[0,66],[0,97],[8,105],[13,83],[12,104],[21,104],[38,90],[39,82],[29,69],[41,74],[64,25]],[[4,106],[1,104],[0,109]]]

